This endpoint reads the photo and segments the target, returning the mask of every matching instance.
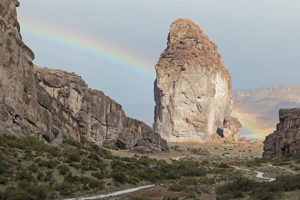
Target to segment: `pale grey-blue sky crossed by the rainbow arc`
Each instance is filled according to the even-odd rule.
[[[121,105],[154,103],[155,64],[170,24],[184,17],[217,44],[233,90],[300,85],[298,0],[19,1],[34,64],[75,72]]]

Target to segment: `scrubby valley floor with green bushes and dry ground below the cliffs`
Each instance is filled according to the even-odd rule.
[[[300,158],[262,159],[262,146],[245,142],[169,145],[169,153],[114,147],[113,155],[98,155],[73,140],[51,147],[0,135],[0,199],[91,197],[152,184],[102,199],[294,199],[299,193]],[[276,180],[265,182],[254,171]]]

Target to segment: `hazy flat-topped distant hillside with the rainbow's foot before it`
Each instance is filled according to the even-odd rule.
[[[242,123],[241,136],[264,139],[276,130],[280,108],[300,107],[300,86],[271,85],[233,91],[232,117]]]

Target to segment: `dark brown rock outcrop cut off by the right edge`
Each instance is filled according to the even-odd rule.
[[[265,137],[262,157],[300,155],[300,108],[280,109],[276,131]]]

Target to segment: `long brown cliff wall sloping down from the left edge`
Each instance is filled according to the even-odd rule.
[[[0,3],[1,132],[32,135],[52,145],[61,145],[67,138],[79,141],[85,135],[100,145],[120,140],[120,148],[167,151],[167,142],[152,128],[126,117],[121,105],[101,91],[88,89],[77,74],[33,65],[34,54],[19,33],[19,2]],[[134,132],[120,135],[127,129]]]

